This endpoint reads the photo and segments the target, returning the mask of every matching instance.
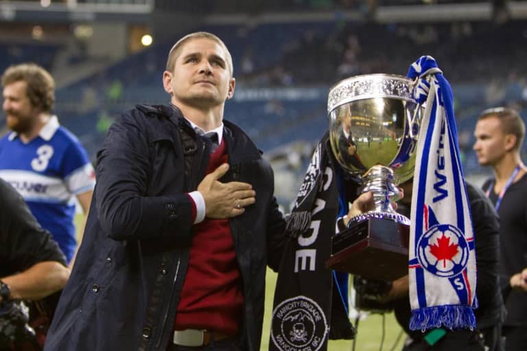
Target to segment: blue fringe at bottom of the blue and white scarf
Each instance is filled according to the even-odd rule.
[[[460,305],[432,306],[412,310],[410,330],[425,331],[433,328],[476,328],[472,307]]]

